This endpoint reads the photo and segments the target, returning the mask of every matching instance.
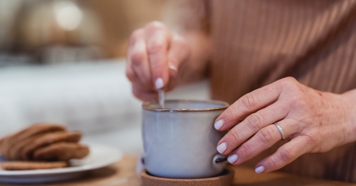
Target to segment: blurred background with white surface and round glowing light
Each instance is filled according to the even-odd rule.
[[[166,0],[1,0],[0,137],[35,122],[138,154],[141,102],[125,77],[130,33],[164,19]],[[167,12],[165,12],[167,14]],[[167,98],[209,98],[206,81]]]

